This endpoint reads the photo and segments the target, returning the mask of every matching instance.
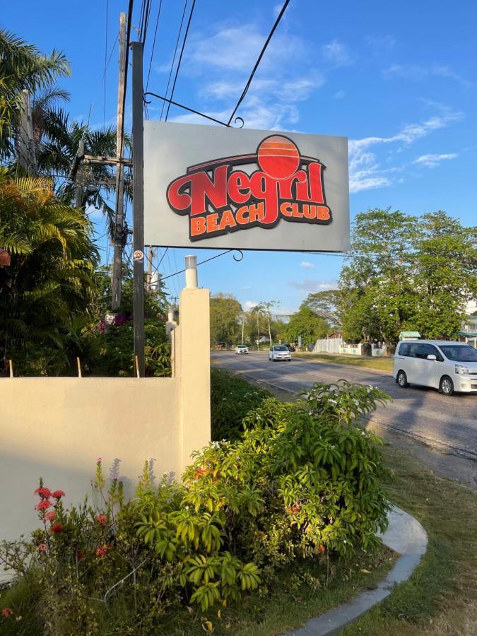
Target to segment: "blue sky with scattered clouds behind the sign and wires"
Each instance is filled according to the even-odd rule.
[[[139,25],[141,3],[135,4]],[[91,107],[91,124],[115,123],[117,47],[104,83],[105,49],[109,57],[127,1],[5,5],[4,28],[42,51],[60,49],[71,61],[72,76],[61,85],[71,92],[73,117],[86,121]],[[276,0],[196,0],[175,99],[228,118],[280,7]],[[153,0],[146,71],[157,8]],[[182,8],[182,0],[163,0],[148,85],[153,92],[165,91]],[[475,225],[476,22],[474,0],[452,6],[444,0],[292,0],[237,114],[248,128],[348,136],[352,219],[367,208],[391,206],[410,214],[443,209]],[[129,102],[128,95],[126,126]],[[160,102],[148,112],[158,117]],[[200,121],[175,107],[170,120]],[[100,230],[100,218],[93,218]],[[185,253],[166,254],[164,276],[182,269]],[[215,252],[196,253],[201,260]],[[111,257],[110,250],[102,254]],[[342,261],[245,252],[240,263],[227,255],[202,266],[199,284],[233,293],[244,307],[278,300],[288,313],[307,293],[333,287]],[[182,282],[182,276],[168,279],[172,294]]]

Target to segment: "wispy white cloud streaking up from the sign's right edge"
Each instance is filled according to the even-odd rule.
[[[390,137],[351,139],[348,143],[350,192],[390,186],[398,180],[394,178],[396,172],[401,172],[404,169],[401,165],[383,170],[376,154],[370,151],[372,146],[392,143],[404,143],[405,146],[410,146],[432,131],[442,129],[464,117],[462,112],[454,111],[449,107],[439,105],[439,109],[440,114],[428,117],[424,122],[418,124],[406,124],[399,132]],[[396,150],[396,153],[399,151],[401,151],[401,147]]]

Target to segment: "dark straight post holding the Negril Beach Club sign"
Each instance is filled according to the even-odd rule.
[[[144,377],[143,45],[132,42],[134,360]]]

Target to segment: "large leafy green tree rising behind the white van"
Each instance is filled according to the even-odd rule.
[[[476,230],[444,212],[370,210],[355,219],[340,276],[343,336],[395,343],[400,331],[452,338],[476,294]]]

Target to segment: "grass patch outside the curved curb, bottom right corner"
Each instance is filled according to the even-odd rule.
[[[428,551],[408,582],[343,630],[343,636],[477,633],[477,493],[436,476],[406,452],[386,447],[396,473],[391,499],[429,535]]]

